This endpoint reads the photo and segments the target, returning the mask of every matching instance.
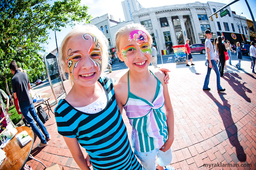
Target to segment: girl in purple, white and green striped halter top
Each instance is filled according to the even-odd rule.
[[[164,73],[149,70],[152,37],[140,24],[130,24],[116,33],[116,50],[129,67],[116,83],[115,95],[132,126],[134,154],[143,170],[169,170],[174,140],[174,117]],[[155,165],[157,155],[157,167]]]

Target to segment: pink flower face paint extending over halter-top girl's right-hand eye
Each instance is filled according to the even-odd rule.
[[[150,44],[148,43],[148,36],[145,32],[141,30],[133,30],[128,38],[128,41],[132,40],[136,41],[136,44],[139,46],[141,52],[151,54],[152,56]]]

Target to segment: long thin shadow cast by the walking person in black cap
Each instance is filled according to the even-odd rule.
[[[211,99],[212,101],[218,106],[218,111],[220,114],[220,117],[223,121],[223,125],[226,130],[226,134],[221,134],[220,135],[224,138],[224,140],[228,139],[229,142],[236,148],[236,156],[241,162],[246,161],[246,155],[244,153],[244,148],[241,146],[238,140],[238,135],[237,135],[237,127],[235,125],[234,120],[232,119],[231,115],[231,110],[230,110],[230,104],[228,104],[228,100],[225,99],[224,95],[226,93],[219,93],[219,96],[221,100],[223,101],[223,104],[220,104],[218,100],[213,97],[212,93],[210,91],[204,91]],[[225,110],[225,111],[224,111]]]

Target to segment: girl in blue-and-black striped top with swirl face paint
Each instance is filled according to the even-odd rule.
[[[55,119],[77,165],[82,170],[91,165],[99,170],[141,170],[116,104],[114,80],[102,75],[108,63],[106,37],[93,25],[75,27],[60,51],[61,70],[73,86],[55,108]],[[86,158],[79,145],[88,153]]]

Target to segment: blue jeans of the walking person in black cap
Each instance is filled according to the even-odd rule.
[[[220,90],[220,89],[222,89],[222,87],[220,86],[220,71],[218,69],[218,66],[217,66],[215,60],[211,60],[211,62],[212,62],[212,68],[215,71],[216,76],[217,76],[217,90]],[[208,63],[208,70],[207,70],[207,74],[205,76],[203,89],[209,88],[208,85],[209,85],[210,74],[211,74],[211,70],[212,70],[212,68],[209,67],[209,60],[207,60],[207,63]]]

